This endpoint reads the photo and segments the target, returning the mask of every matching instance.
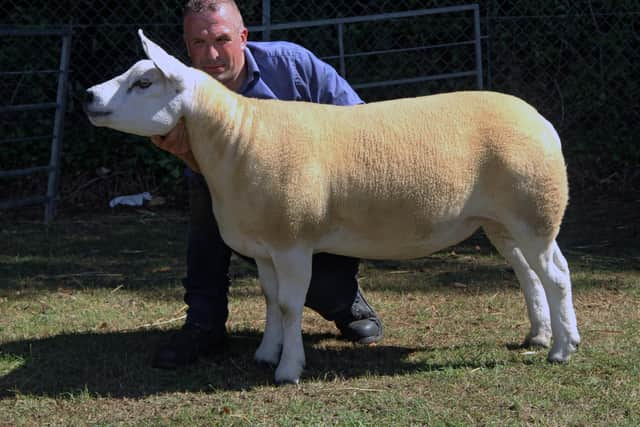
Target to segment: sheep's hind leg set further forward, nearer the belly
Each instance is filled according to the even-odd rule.
[[[515,240],[503,226],[487,223],[482,228],[491,243],[513,268],[524,293],[531,329],[524,338],[523,346],[549,347],[551,345],[549,304],[540,278],[531,269]]]

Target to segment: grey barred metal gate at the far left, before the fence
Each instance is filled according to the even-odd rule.
[[[28,76],[28,75],[52,75],[57,77],[57,91],[55,101],[22,103],[18,105],[0,105],[0,115],[19,112],[34,112],[53,110],[55,113],[54,124],[51,134],[29,135],[29,136],[9,136],[1,135],[0,146],[8,144],[20,144],[24,142],[51,139],[51,152],[48,165],[38,165],[28,168],[0,170],[0,179],[17,179],[29,175],[47,173],[47,190],[45,194],[21,197],[15,199],[0,200],[0,209],[18,208],[28,205],[43,204],[45,206],[44,221],[51,222],[55,214],[55,206],[58,198],[58,183],[60,177],[60,153],[62,149],[62,139],[64,130],[64,114],[67,104],[67,82],[69,78],[69,57],[71,53],[71,29],[70,28],[50,28],[50,29],[24,29],[0,27],[0,38],[35,38],[35,37],[59,37],[61,41],[60,61],[57,69],[28,69],[29,64],[24,64],[22,70],[1,70],[0,78]],[[4,101],[4,100],[3,100]],[[43,189],[44,193],[44,189]]]

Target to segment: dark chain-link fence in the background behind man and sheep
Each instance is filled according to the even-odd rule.
[[[615,6],[595,0],[477,3],[484,87],[521,96],[556,125],[564,140],[574,190],[633,189],[640,181],[640,147],[635,143],[640,131],[638,2],[620,0]],[[347,79],[366,101],[477,87],[475,75],[417,79],[390,86],[366,84],[473,69],[475,51],[467,43],[474,38],[469,14],[361,22],[341,30],[335,25],[278,27],[290,22],[442,8],[459,5],[459,0],[239,0],[238,4],[251,29],[250,39],[303,44],[337,69],[343,66]],[[125,191],[125,182],[145,189],[157,187],[168,175],[179,174],[171,159],[148,144],[121,144],[132,137],[91,127],[78,100],[84,88],[126,70],[142,57],[135,34],[138,27],[186,61],[182,5],[182,0],[8,0],[0,6],[0,25],[70,25],[73,29],[63,198],[69,200],[89,188],[87,183],[97,179],[96,168],[103,166],[114,172],[111,178],[118,173],[155,171],[138,173],[133,181],[113,179],[112,183],[121,184],[111,185],[112,192]],[[343,31],[342,46],[338,31]],[[2,69],[16,61],[37,63],[49,54],[49,48],[37,40],[22,46],[8,46],[5,40],[1,43]],[[34,82],[28,89],[34,87],[40,84]],[[26,88],[24,82],[3,82],[2,102],[12,102],[15,94]],[[3,131],[16,129],[17,121],[0,120],[4,120]],[[30,127],[33,119],[26,123]],[[18,159],[24,161],[23,149],[3,149],[0,169]],[[37,152],[32,155],[37,156]],[[15,191],[2,182],[0,185],[0,196]]]

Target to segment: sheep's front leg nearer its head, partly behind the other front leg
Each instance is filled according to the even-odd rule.
[[[278,305],[278,278],[270,259],[257,259],[260,285],[267,303],[266,324],[262,341],[255,354],[258,363],[277,365],[282,350],[282,316]]]

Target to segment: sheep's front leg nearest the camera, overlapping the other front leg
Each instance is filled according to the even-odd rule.
[[[283,342],[275,380],[297,384],[305,364],[302,345],[302,310],[311,281],[309,249],[296,248],[272,255],[278,277],[278,305],[282,316]]]

